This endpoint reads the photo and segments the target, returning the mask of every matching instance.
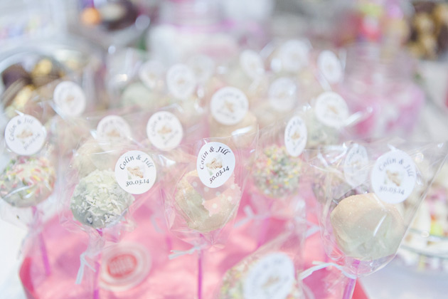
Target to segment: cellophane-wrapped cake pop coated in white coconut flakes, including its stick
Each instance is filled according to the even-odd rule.
[[[131,115],[113,113],[84,117],[88,134],[78,136],[62,169],[60,221],[72,233],[85,231],[89,236],[76,282],[93,285],[93,298],[99,290],[97,273],[106,242],[120,241],[136,226],[134,211],[146,200],[159,199],[157,154],[137,142],[126,120]],[[94,270],[93,277],[83,278],[86,266]]]

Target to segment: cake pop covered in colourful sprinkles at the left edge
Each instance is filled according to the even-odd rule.
[[[55,179],[46,157],[17,157],[0,174],[0,196],[11,206],[34,206],[50,196]]]

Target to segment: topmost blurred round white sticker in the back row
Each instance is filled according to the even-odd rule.
[[[282,70],[297,72],[308,64],[309,45],[304,41],[290,40],[279,48]]]

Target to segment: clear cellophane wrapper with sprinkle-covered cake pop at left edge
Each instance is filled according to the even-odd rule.
[[[0,214],[2,219],[13,224],[37,228],[43,219],[55,212],[54,202],[47,199],[55,189],[58,157],[51,142],[52,132],[44,126],[46,115],[54,112],[48,102],[33,107],[27,105],[24,110],[27,114],[14,110],[1,115],[5,123],[0,145]],[[21,118],[13,120],[14,126],[7,127],[17,116],[26,117],[28,124]],[[14,152],[6,138],[14,139],[13,142],[20,144],[25,152]],[[29,152],[37,143],[41,146]]]

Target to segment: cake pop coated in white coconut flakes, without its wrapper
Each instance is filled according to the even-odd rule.
[[[134,196],[119,187],[114,172],[97,169],[80,179],[70,209],[82,224],[104,229],[116,224],[133,201]]]

